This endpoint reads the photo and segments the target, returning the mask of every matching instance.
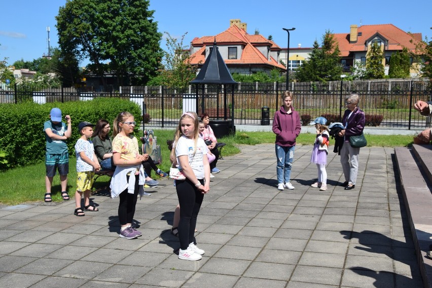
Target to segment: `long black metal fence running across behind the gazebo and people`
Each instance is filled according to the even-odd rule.
[[[329,83],[291,83],[293,106],[302,120],[317,116],[337,121],[345,110],[344,97],[350,93],[360,96],[359,107],[368,124],[379,128],[424,129],[430,127],[429,117],[413,109],[416,100],[432,101],[428,79],[417,80],[357,80]],[[134,101],[148,114],[146,126],[175,127],[185,111],[204,110],[210,118],[231,119],[234,107],[235,125],[271,125],[273,114],[282,103],[284,83],[239,83],[235,87],[203,86],[176,90],[166,87],[120,87],[118,91],[98,92],[88,89],[19,86],[0,90],[0,103],[36,103],[87,101],[95,97],[120,97]],[[232,93],[234,92],[234,93]],[[198,99],[196,95],[198,94]],[[234,106],[232,106],[234,103]],[[266,113],[263,113],[266,111]],[[263,117],[269,117],[268,121]]]

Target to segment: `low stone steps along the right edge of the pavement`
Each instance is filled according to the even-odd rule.
[[[432,244],[432,194],[426,175],[428,168],[424,164],[428,160],[430,162],[432,150],[426,147],[396,147],[394,153],[423,284],[432,288],[432,259],[426,256]]]

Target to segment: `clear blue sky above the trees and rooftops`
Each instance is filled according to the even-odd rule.
[[[8,57],[9,64],[21,58],[25,61],[42,57],[48,53],[47,31],[50,26],[51,47],[58,46],[55,16],[65,0],[0,0],[0,59]],[[427,13],[432,11],[432,1],[372,1],[347,2],[334,0],[291,1],[232,1],[203,2],[189,0],[151,0],[155,10],[154,20],[160,32],[167,31],[174,37],[185,32],[184,44],[194,37],[218,34],[229,27],[230,19],[247,23],[247,32],[255,29],[286,48],[287,33],[282,28],[295,27],[290,32],[290,47],[311,47],[314,40],[321,39],[326,29],[334,33],[348,33],[351,24],[393,24],[404,31],[420,32],[423,39],[432,38],[432,20]],[[427,13],[422,13],[426,11]],[[161,43],[165,49],[165,42]],[[87,61],[81,63],[82,66]]]

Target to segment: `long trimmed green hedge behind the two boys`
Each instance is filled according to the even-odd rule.
[[[63,118],[68,114],[72,119],[72,136],[66,141],[70,155],[75,153],[74,146],[80,138],[79,122],[96,124],[98,119],[104,118],[112,123],[122,111],[132,113],[138,123],[142,117],[136,103],[118,98],[47,104],[0,104],[0,170],[45,160],[44,122],[49,120],[53,107],[61,109]]]

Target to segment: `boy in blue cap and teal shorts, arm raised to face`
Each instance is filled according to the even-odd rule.
[[[44,123],[46,139],[45,153],[45,202],[51,202],[51,186],[56,170],[60,174],[61,196],[63,200],[69,200],[67,194],[67,173],[69,173],[69,153],[67,151],[66,139],[72,135],[70,116],[66,115],[67,125],[61,121],[61,110],[52,108],[50,120]]]

